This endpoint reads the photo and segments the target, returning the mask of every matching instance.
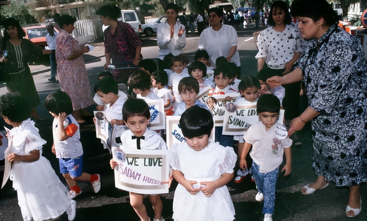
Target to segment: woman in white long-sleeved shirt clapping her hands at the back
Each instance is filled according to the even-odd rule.
[[[167,21],[160,23],[157,29],[158,67],[164,70],[164,56],[172,54],[177,56],[182,53],[186,45],[185,26],[177,21],[178,6],[168,3],[166,7]]]

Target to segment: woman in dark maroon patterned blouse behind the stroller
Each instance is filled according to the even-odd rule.
[[[143,59],[141,40],[130,24],[117,21],[121,17],[120,8],[116,5],[103,5],[96,11],[96,14],[101,18],[103,25],[109,26],[104,31],[105,70],[111,64],[111,59],[113,64],[132,62],[134,65],[138,65],[139,61]],[[117,70],[115,74],[117,74]]]

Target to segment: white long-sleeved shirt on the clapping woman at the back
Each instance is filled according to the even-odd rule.
[[[168,22],[160,23],[157,28],[157,44],[159,49],[158,58],[163,60],[164,56],[172,53],[177,56],[182,53],[182,48],[186,46],[186,34],[183,32],[181,36],[178,36],[180,29],[185,29],[185,26],[176,22],[174,25],[174,33],[171,38],[171,27]]]

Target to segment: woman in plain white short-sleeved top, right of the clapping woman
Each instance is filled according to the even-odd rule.
[[[208,14],[211,27],[201,33],[199,48],[208,52],[211,66],[214,68],[215,60],[221,56],[227,58],[228,62],[235,63],[238,69],[237,78],[240,79],[241,63],[237,51],[238,37],[236,30],[232,26],[222,24],[224,15],[222,9],[210,8]]]

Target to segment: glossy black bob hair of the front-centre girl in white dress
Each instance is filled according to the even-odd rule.
[[[210,137],[214,126],[211,113],[196,105],[182,113],[179,123],[183,136],[189,139],[203,135]]]

